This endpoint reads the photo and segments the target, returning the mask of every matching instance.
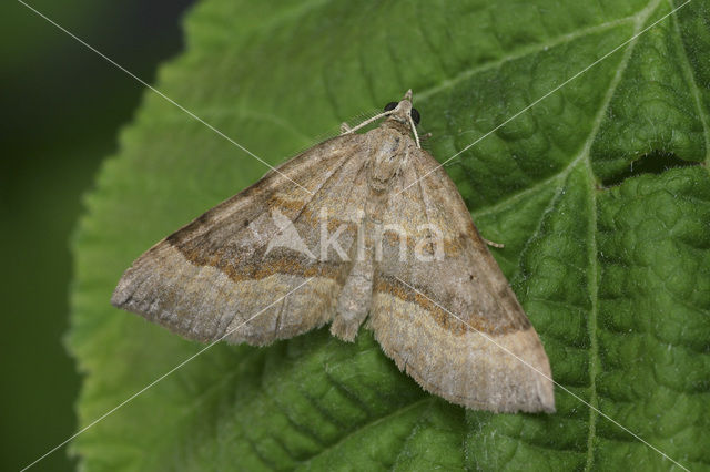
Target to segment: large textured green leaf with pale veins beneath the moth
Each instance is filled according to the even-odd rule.
[[[156,86],[272,164],[412,88],[444,161],[679,4],[204,0]],[[495,255],[549,355],[556,414],[466,411],[368,331],[351,345],[322,329],[214,346],[73,452],[90,471],[678,469],[609,417],[710,469],[708,64],[710,7],[694,0],[447,166],[506,244]],[[113,309],[121,273],[266,171],[149,91],[120,142],[74,242],[82,425],[202,348]]]

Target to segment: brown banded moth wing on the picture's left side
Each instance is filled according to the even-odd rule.
[[[345,226],[338,242],[349,250],[349,217],[365,201],[363,143],[321,143],[159,242],[123,274],[112,304],[200,341],[265,345],[326,324],[349,263],[332,247],[321,260],[320,211]]]

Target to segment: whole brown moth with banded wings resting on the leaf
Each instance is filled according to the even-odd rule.
[[[363,134],[344,124],[158,243],[111,302],[189,339],[256,346],[325,324],[353,341],[367,320],[432,393],[555,411],[545,349],[456,186],[419,147],[412,91],[383,116]]]

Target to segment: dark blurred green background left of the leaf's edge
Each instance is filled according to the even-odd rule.
[[[26,0],[152,83],[180,53],[192,0]],[[0,6],[2,320],[0,470],[20,470],[75,430],[80,378],[67,355],[69,242],[101,161],[143,86],[17,0]],[[71,470],[65,448],[32,470]]]

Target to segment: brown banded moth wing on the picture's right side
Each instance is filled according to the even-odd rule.
[[[400,240],[383,238],[368,321],[375,338],[425,390],[454,403],[554,411],[547,355],[456,186],[426,152],[408,158],[383,220],[416,237],[406,260]]]

